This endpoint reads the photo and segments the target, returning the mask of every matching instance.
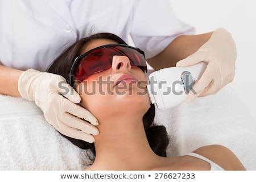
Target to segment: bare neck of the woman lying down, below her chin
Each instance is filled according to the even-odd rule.
[[[148,170],[159,161],[148,144],[142,119],[114,118],[98,128],[96,159],[90,169]]]

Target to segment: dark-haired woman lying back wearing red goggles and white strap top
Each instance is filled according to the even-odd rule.
[[[92,151],[87,170],[245,169],[232,151],[220,145],[167,158],[169,138],[166,128],[153,122],[155,107],[146,91],[145,71],[143,51],[109,33],[79,40],[49,67],[48,72],[69,81],[81,96],[80,105],[98,119],[94,143],[64,136]]]

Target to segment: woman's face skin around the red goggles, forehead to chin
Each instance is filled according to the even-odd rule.
[[[117,44],[109,39],[96,39],[82,50],[105,44]],[[76,87],[81,105],[99,121],[106,117],[131,117],[143,115],[150,107],[146,89],[146,77],[141,68],[131,66],[126,56],[113,56],[112,67],[86,77]]]

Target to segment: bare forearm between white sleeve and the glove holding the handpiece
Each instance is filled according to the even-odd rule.
[[[148,64],[155,70],[175,67],[177,61],[192,55],[204,43],[206,43],[212,32],[200,35],[181,35],[174,39],[159,55],[148,59]]]

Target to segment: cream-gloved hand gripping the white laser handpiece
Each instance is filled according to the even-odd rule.
[[[176,67],[187,67],[201,61],[208,63],[205,72],[193,86],[195,92],[190,91],[186,100],[192,102],[197,96],[214,94],[231,82],[236,59],[236,44],[232,36],[224,28],[217,28],[199,50],[176,63]]]

